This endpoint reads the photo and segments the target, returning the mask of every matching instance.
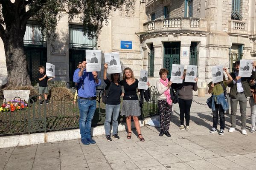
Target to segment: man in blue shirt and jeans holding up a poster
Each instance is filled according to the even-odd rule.
[[[101,85],[101,81],[96,71],[86,71],[86,64],[87,62],[83,61],[82,68],[74,72],[73,82],[76,82],[78,88],[81,142],[94,144],[96,142],[91,137],[91,125],[96,110],[96,86]]]

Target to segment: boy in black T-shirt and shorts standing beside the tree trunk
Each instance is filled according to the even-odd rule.
[[[39,83],[39,94],[44,95],[45,100],[47,101],[47,94],[49,93],[47,82],[53,79],[54,77],[48,78],[46,74],[44,74],[44,66],[39,65],[38,67],[38,83]],[[38,97],[41,100],[41,96]],[[40,101],[40,104],[43,104],[43,101]]]

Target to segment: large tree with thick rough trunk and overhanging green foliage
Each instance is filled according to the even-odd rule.
[[[70,20],[81,14],[84,34],[93,38],[100,33],[103,23],[108,23],[111,11],[124,6],[129,11],[134,0],[0,0],[0,37],[6,54],[7,85],[30,85],[23,52],[28,20],[37,21],[43,37],[54,40],[56,25],[65,12]]]

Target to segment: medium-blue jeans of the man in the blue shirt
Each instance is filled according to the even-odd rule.
[[[91,138],[91,125],[96,110],[96,100],[78,99],[80,111],[79,129],[81,139]]]

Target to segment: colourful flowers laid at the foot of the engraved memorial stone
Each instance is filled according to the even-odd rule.
[[[20,100],[10,100],[7,103],[3,103],[0,107],[0,112],[5,111],[18,111],[28,108],[28,103]]]

